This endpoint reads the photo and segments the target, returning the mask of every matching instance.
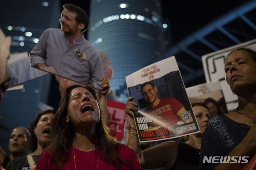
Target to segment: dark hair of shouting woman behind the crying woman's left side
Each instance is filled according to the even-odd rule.
[[[55,115],[55,110],[46,110],[41,113],[39,113],[31,122],[30,122],[30,150],[31,152],[34,152],[37,149],[37,137],[34,133],[34,128],[37,126],[38,121],[40,120],[41,116],[52,113]]]

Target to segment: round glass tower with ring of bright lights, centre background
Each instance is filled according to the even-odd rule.
[[[110,55],[110,82],[120,102],[128,97],[125,77],[164,52],[161,4],[157,0],[92,0],[88,40]]]

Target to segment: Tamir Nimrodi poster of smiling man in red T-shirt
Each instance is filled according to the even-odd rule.
[[[140,142],[199,132],[174,56],[132,73],[126,83],[138,104],[134,120]]]

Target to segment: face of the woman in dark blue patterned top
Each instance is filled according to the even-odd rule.
[[[254,88],[256,85],[256,62],[245,50],[237,50],[229,54],[225,61],[226,82],[232,92],[240,88]]]

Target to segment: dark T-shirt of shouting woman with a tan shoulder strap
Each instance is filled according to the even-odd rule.
[[[34,162],[37,163],[40,155],[32,155]],[[22,170],[22,168],[30,170],[30,165],[27,161],[27,156],[18,157],[13,159],[9,165],[6,167],[6,170]]]

